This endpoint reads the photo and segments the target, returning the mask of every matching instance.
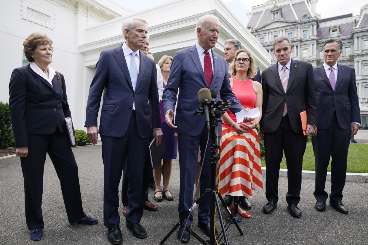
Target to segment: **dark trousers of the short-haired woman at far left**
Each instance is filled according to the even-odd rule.
[[[29,230],[43,228],[42,187],[46,152],[61,185],[69,223],[84,217],[78,166],[67,133],[28,134],[28,156],[21,158],[24,177],[25,219]]]

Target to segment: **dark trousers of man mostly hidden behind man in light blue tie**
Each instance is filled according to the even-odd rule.
[[[149,143],[151,143],[152,140],[153,140],[153,129],[151,128]],[[143,150],[144,149],[142,149],[142,151]],[[147,150],[147,157],[146,157],[145,165],[144,165],[143,183],[142,183],[143,201],[149,201],[148,187],[149,187],[149,183],[151,183],[153,179],[151,158],[149,157],[148,147],[146,150]],[[123,206],[128,206],[128,174],[127,174],[126,169],[123,169],[123,184],[121,186],[121,202],[123,203]]]

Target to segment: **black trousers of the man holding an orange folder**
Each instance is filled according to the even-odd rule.
[[[298,204],[300,201],[301,169],[303,155],[307,146],[307,136],[302,131],[295,133],[291,128],[289,116],[286,114],[275,132],[265,133],[265,160],[266,160],[266,198],[277,202],[279,192],[280,163],[283,152],[287,166],[287,203]]]

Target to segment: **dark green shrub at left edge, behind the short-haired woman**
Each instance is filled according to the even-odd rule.
[[[9,104],[0,101],[0,149],[15,145],[13,128],[9,114]]]

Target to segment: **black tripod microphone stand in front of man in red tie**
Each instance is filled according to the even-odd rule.
[[[222,205],[224,207],[226,207],[226,213],[227,215],[229,215],[229,218],[227,219],[227,223],[226,225],[224,224],[224,221],[222,219],[222,214],[221,214],[221,210],[220,210],[220,204],[219,204],[219,200],[217,199],[217,192],[218,189],[216,187],[216,165],[217,162],[220,159],[220,154],[217,154],[217,150],[220,150],[220,146],[218,144],[216,144],[216,129],[217,129],[217,125],[218,122],[224,123],[223,119],[222,119],[222,113],[224,111],[227,111],[231,105],[235,104],[236,101],[232,101],[230,102],[229,100],[227,100],[226,102],[223,102],[222,100],[219,100],[217,102],[215,102],[215,99],[213,98],[211,101],[208,101],[207,99],[205,99],[204,103],[206,103],[208,105],[209,111],[210,111],[210,136],[212,139],[212,143],[211,143],[211,183],[210,183],[210,188],[206,190],[206,192],[197,199],[196,202],[194,202],[194,204],[192,205],[192,207],[185,213],[185,215],[183,216],[183,218],[181,218],[176,225],[169,231],[169,233],[166,235],[166,237],[164,237],[162,239],[162,241],[160,242],[160,244],[164,244],[164,242],[170,237],[170,235],[181,225],[181,226],[185,226],[185,223],[183,223],[184,219],[186,217],[188,217],[188,215],[190,214],[190,212],[198,205],[199,202],[202,201],[202,199],[205,197],[205,195],[210,194],[210,240],[208,243],[208,240],[205,241],[204,239],[202,239],[201,237],[199,237],[199,235],[197,235],[194,231],[192,231],[189,227],[185,227],[185,230],[187,230],[195,239],[197,239],[201,244],[203,245],[215,245],[216,244],[216,239],[217,239],[217,243],[219,243],[221,241],[222,238],[224,238],[224,242],[221,244],[225,244],[225,245],[229,245],[229,241],[227,239],[227,235],[226,235],[226,231],[227,229],[229,229],[231,224],[234,224],[237,228],[237,230],[239,231],[240,235],[243,235],[243,232],[241,231],[240,227],[237,224],[237,216],[233,215],[229,209],[229,207],[227,207],[224,199],[222,198],[221,195],[219,195],[219,199],[222,202]],[[201,107],[198,108],[198,110],[194,113],[194,115],[204,115],[204,103],[201,105]],[[221,232],[219,233],[219,236],[215,239],[215,207],[217,207],[217,213],[219,216],[219,222],[221,225]]]

